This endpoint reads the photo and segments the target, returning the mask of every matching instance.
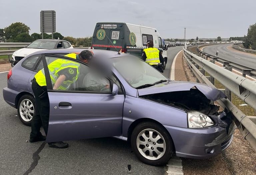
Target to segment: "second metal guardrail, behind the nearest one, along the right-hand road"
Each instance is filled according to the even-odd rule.
[[[238,69],[240,72],[242,72],[242,75],[245,77],[246,75],[250,75],[252,77],[256,77],[256,70],[251,68],[251,67],[245,67],[243,65],[239,65],[239,64],[236,64],[234,62],[230,62],[230,61],[227,61],[225,59],[222,59],[222,58],[219,58],[217,56],[214,56],[214,55],[211,55],[211,54],[208,54],[208,53],[205,53],[203,51],[200,51],[199,50],[199,47],[200,46],[209,46],[209,45],[216,45],[216,44],[204,44],[204,45],[199,45],[199,46],[188,46],[187,48],[188,49],[191,49],[191,48],[194,48],[194,47],[198,47],[198,54],[199,56],[206,56],[207,58],[211,58],[211,59],[215,59],[219,62],[221,62],[223,65],[227,65],[227,66],[232,66],[232,67],[235,67],[236,69]]]

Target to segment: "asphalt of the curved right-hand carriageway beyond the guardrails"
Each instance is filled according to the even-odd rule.
[[[220,45],[211,45],[203,48],[205,53],[215,55],[218,50],[218,57],[225,59],[230,62],[243,65],[252,69],[256,69],[256,56],[250,56],[242,54],[239,52],[234,52],[229,50],[227,47],[231,44],[220,44]]]

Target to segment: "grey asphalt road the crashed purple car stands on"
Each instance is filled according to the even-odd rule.
[[[169,77],[174,56],[182,47],[168,48],[164,74]],[[50,148],[45,142],[30,143],[30,127],[23,125],[17,109],[3,99],[7,73],[0,73],[0,174],[127,174],[127,165],[136,175],[165,174],[166,166],[154,167],[140,162],[130,145],[116,138],[68,141],[65,149]]]

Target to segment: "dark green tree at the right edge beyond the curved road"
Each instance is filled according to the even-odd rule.
[[[249,49],[256,49],[256,23],[249,26],[246,40],[243,45]]]

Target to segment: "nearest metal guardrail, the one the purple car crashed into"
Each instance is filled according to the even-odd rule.
[[[184,58],[187,60],[189,67],[197,77],[197,81],[214,86],[214,79],[217,79],[225,87],[228,87],[228,89],[226,88],[225,90],[226,92],[227,90],[230,90],[244,102],[256,109],[256,81],[251,81],[225,69],[224,67],[220,67],[214,64],[214,60],[212,63],[207,59],[189,52],[185,48],[183,48],[183,50]],[[198,69],[199,67],[202,69]],[[205,71],[209,73],[211,77],[206,77]],[[246,116],[228,99],[223,98],[217,102],[232,112],[235,117],[233,119],[235,124],[242,132],[244,138],[248,140],[250,145],[256,151],[256,117]]]

